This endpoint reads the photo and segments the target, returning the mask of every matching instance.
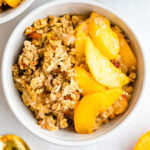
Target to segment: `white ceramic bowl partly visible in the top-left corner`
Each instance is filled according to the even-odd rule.
[[[5,23],[26,10],[34,0],[23,0],[23,2],[17,8],[10,8],[0,13],[0,24]]]

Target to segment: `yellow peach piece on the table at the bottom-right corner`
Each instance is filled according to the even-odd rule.
[[[141,136],[134,150],[150,150],[150,131]]]

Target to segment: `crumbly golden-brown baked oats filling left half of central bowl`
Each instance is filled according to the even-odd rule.
[[[16,88],[38,123],[50,130],[67,128],[81,96],[74,80],[75,27],[80,16],[50,16],[27,27],[23,52],[12,67]]]

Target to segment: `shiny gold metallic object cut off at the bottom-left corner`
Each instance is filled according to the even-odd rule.
[[[30,150],[28,145],[16,135],[4,135],[0,136],[0,145],[4,150]]]

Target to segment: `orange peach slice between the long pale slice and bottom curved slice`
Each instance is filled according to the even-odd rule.
[[[77,76],[75,80],[78,82],[79,87],[83,90],[82,94],[92,94],[105,90],[106,88],[95,81],[92,75],[81,67],[75,67]]]

